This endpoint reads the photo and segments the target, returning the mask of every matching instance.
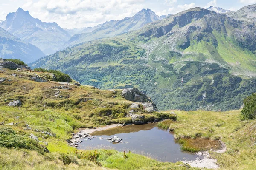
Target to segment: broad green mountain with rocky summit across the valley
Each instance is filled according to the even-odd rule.
[[[98,88],[143,89],[161,110],[232,110],[256,91],[255,32],[254,25],[192,8],[31,66]]]

